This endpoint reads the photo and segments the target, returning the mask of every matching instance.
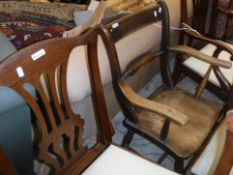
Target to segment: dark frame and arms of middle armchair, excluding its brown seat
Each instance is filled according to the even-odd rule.
[[[117,54],[117,50],[115,47],[115,43],[120,39],[124,38],[125,36],[129,35],[130,33],[146,26],[149,24],[153,24],[157,21],[161,21],[161,28],[162,28],[162,41],[160,45],[160,50],[151,50],[147,53],[142,54],[135,60],[133,60],[129,65],[126,71],[122,71],[119,64],[119,58]],[[117,27],[115,27],[117,26]],[[107,48],[110,67],[111,67],[111,75],[112,75],[112,82],[113,87],[116,93],[117,100],[119,105],[122,109],[122,112],[126,116],[126,120],[137,124],[138,120],[134,115],[134,110],[131,106],[148,110],[151,112],[159,113],[167,117],[166,122],[162,128],[162,132],[160,138],[162,140],[166,139],[167,134],[169,132],[169,125],[170,122],[177,122],[180,125],[185,125],[188,121],[188,117],[179,111],[164,106],[163,104],[156,103],[151,100],[147,100],[138,96],[129,85],[126,83],[126,78],[133,75],[135,72],[140,70],[144,65],[151,63],[154,58],[160,58],[160,71],[162,75],[162,79],[164,84],[168,88],[175,87],[175,82],[173,81],[173,76],[169,68],[169,52],[177,52],[181,54],[188,54],[191,56],[195,56],[198,59],[205,60],[206,62],[210,63],[213,66],[223,66],[229,68],[231,63],[217,60],[213,57],[207,56],[198,52],[197,50],[190,48],[188,46],[169,46],[169,15],[168,9],[166,4],[160,0],[157,2],[156,5],[140,11],[136,14],[129,15],[123,17],[107,26],[101,26],[101,35],[103,41],[105,43],[105,47]],[[205,83],[202,83],[204,86]],[[202,91],[202,88],[199,88]],[[199,93],[199,92],[197,92]],[[150,135],[146,134],[145,132],[135,129],[131,125],[129,125],[126,120],[124,121],[124,126],[128,129],[128,133],[125,135],[122,146],[129,147],[129,143],[133,138],[133,134],[137,133],[146,139],[150,140],[151,142],[155,143],[157,146],[165,150],[168,154],[170,154],[175,159],[174,169],[180,173],[185,173],[188,168],[192,165],[192,163],[196,160],[200,152],[205,148],[210,139],[210,136],[206,138],[203,145],[194,153],[194,157],[188,163],[186,167],[183,166],[184,158],[177,156],[171,149],[166,147],[160,141],[155,140]],[[216,129],[217,123],[212,128],[211,133]],[[160,159],[163,160],[163,157]],[[159,160],[158,163],[161,163]]]

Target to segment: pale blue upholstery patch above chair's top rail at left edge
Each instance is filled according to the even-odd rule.
[[[0,32],[0,62],[16,51],[15,46]]]

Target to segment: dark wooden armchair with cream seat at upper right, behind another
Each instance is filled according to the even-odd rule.
[[[209,1],[193,0],[192,2],[193,18],[191,19],[191,25],[200,35],[190,30],[184,30],[181,32],[180,43],[193,45],[202,53],[212,55],[217,59],[231,61],[233,54],[232,45],[205,37]],[[190,19],[188,19],[187,14],[187,0],[181,0],[181,22],[188,23]],[[227,100],[229,90],[233,83],[233,67],[230,69],[218,68],[206,64],[203,61],[196,60],[193,57],[180,57],[177,59],[174,73],[175,79],[178,80],[181,75],[187,75],[197,82],[202,81],[203,77],[209,77],[206,86],[207,89],[224,101]]]

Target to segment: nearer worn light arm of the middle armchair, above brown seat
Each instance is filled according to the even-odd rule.
[[[159,113],[180,125],[185,125],[189,121],[189,117],[185,114],[182,114],[181,112],[162,103],[148,100],[139,96],[123,80],[119,81],[119,87],[126,99],[135,107],[149,110],[154,113]]]

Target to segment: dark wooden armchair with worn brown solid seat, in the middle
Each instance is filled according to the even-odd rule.
[[[157,23],[161,22],[161,23]],[[161,45],[142,53],[124,70],[116,48],[118,41],[148,25],[161,29]],[[185,173],[207,145],[213,131],[223,119],[224,106],[199,97],[205,80],[194,94],[176,86],[169,66],[170,52],[190,55],[208,62],[213,67],[231,67],[231,63],[207,56],[198,50],[180,45],[169,46],[169,14],[164,1],[154,6],[102,26],[102,37],[108,51],[113,87],[128,129],[122,146],[129,147],[134,134],[150,140],[175,159],[174,169]],[[140,41],[138,41],[140,42]],[[139,96],[128,84],[128,79],[153,60],[159,59],[163,85],[149,98]],[[164,155],[158,161],[161,163]],[[187,166],[184,160],[190,158]]]

